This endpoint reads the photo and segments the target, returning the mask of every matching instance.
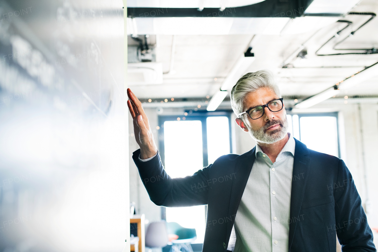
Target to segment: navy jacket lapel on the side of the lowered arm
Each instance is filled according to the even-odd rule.
[[[303,195],[305,192],[308,172],[310,170],[310,159],[305,157],[309,154],[307,146],[295,139],[294,151],[294,165],[293,165],[293,178],[299,177],[300,179],[293,179],[291,182],[291,200],[290,200],[290,226],[289,226],[289,248],[293,243],[294,232],[297,222],[293,221],[294,218],[299,218],[301,211]],[[302,178],[302,179],[301,179]]]

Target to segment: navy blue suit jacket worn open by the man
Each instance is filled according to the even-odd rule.
[[[138,149],[133,160],[156,205],[207,204],[203,251],[226,252],[255,149],[219,157],[192,176],[175,179],[165,172],[159,155],[140,162]],[[361,198],[345,163],[308,149],[296,139],[289,222],[290,252],[335,252],[336,235],[343,251],[376,251]]]

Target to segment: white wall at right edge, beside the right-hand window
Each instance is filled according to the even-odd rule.
[[[339,123],[344,123],[345,134],[340,137],[345,140],[345,154],[341,158],[355,180],[370,227],[378,227],[378,104],[319,104],[316,107],[332,107],[342,113]]]

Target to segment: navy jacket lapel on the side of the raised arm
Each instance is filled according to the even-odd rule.
[[[235,179],[232,182],[232,191],[230,199],[229,216],[232,221],[227,224],[227,238],[231,235],[232,226],[234,226],[235,216],[239,208],[240,201],[242,200],[245,186],[247,185],[249,174],[251,173],[253,162],[255,161],[256,146],[245,153],[245,157],[240,156],[240,159],[235,165]]]

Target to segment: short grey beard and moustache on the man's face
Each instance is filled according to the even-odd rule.
[[[281,127],[278,129],[274,129],[273,131],[266,132],[266,129],[273,126],[274,124],[279,124]],[[264,126],[262,126],[257,131],[254,131],[252,128],[249,127],[248,124],[245,124],[249,135],[256,140],[256,142],[259,143],[265,143],[265,144],[271,144],[275,143],[279,140],[282,140],[288,131],[288,122],[287,118],[285,116],[284,120],[270,120],[267,123],[265,123]]]

